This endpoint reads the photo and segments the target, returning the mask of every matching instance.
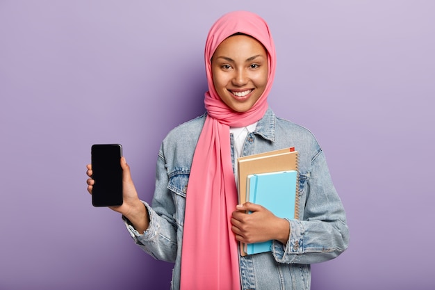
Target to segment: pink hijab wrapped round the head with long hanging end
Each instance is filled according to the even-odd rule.
[[[268,51],[268,83],[263,95],[245,113],[232,111],[213,85],[211,58],[220,43],[234,33],[256,38]],[[245,127],[260,120],[268,109],[267,97],[276,66],[268,24],[246,11],[217,19],[205,47],[208,92],[207,118],[199,136],[186,194],[181,289],[240,289],[238,242],[231,231],[231,213],[238,194],[231,164],[229,127]]]

